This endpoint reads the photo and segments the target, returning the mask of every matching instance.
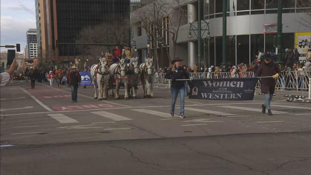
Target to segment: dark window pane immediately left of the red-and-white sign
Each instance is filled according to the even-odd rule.
[[[250,59],[256,60],[258,51],[263,52],[263,34],[250,35]]]

